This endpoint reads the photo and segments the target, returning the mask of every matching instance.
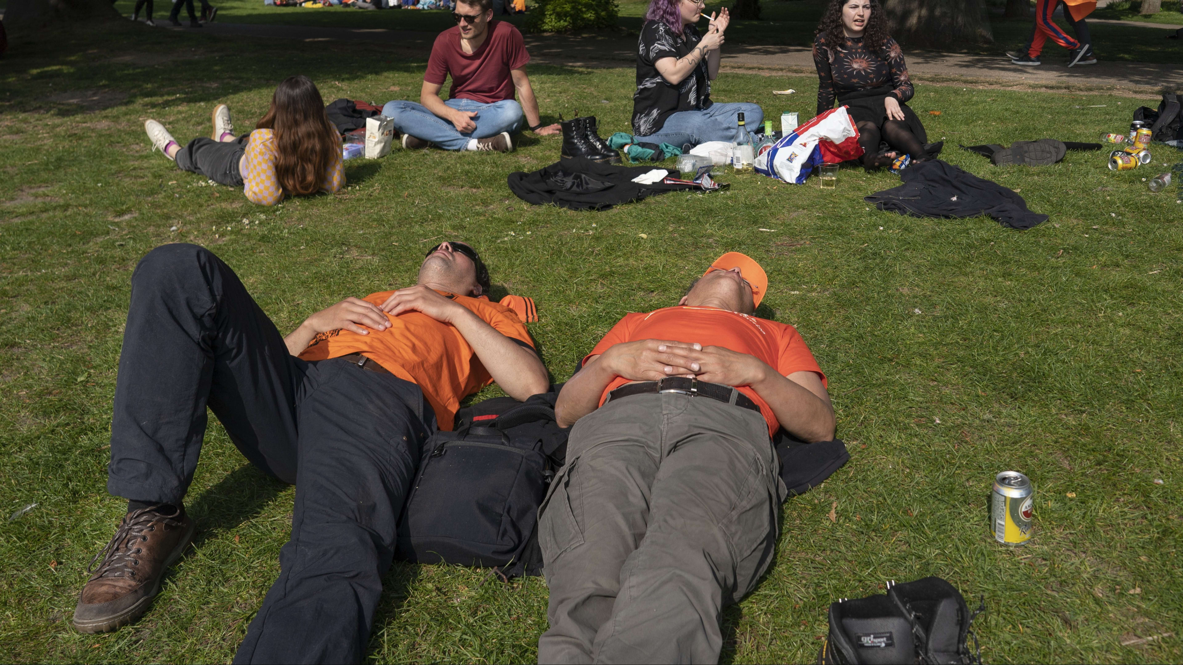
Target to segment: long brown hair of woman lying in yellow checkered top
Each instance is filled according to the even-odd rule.
[[[276,177],[284,192],[315,194],[334,160],[341,135],[324,114],[324,99],[306,76],[291,76],[276,88],[267,115],[254,125],[274,133]]]

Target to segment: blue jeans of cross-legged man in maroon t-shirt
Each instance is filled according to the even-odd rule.
[[[444,102],[458,111],[477,111],[472,121],[477,129],[461,134],[451,122],[427,110],[418,102],[395,99],[382,106],[382,115],[394,118],[394,128],[415,138],[431,141],[445,150],[460,150],[470,138],[487,138],[503,131],[513,134],[522,128],[522,104],[513,99],[502,99],[481,104],[472,99],[448,99]]]

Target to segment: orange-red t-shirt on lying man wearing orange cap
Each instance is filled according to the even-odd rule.
[[[826,385],[826,375],[817,367],[817,361],[814,360],[813,353],[796,328],[718,308],[674,306],[648,314],[627,314],[603,340],[600,340],[587,357],[600,355],[613,344],[640,340],[671,340],[698,342],[703,347],[723,347],[736,353],[754,355],[784,376],[794,372],[815,372],[821,377],[822,386]],[[600,395],[600,405],[602,406],[608,399],[609,392],[628,382],[629,380],[623,376],[613,379]],[[749,386],[737,386],[737,388],[756,402],[761,415],[768,421],[769,435],[775,434],[781,424],[768,402]]]

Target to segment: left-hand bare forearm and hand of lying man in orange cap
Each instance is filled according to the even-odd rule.
[[[662,340],[641,340],[613,344],[602,355],[592,356],[558,393],[555,419],[560,427],[575,421],[600,406],[600,395],[616,376],[631,381],[658,381],[666,376],[690,373],[683,356],[671,353],[675,347],[697,350],[698,344]]]

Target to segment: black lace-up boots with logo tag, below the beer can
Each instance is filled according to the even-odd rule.
[[[970,614],[961,592],[940,577],[888,582],[886,595],[829,606],[829,634],[817,663],[981,665],[982,651],[970,625],[984,609],[983,602]],[[974,652],[967,638],[974,639]]]

